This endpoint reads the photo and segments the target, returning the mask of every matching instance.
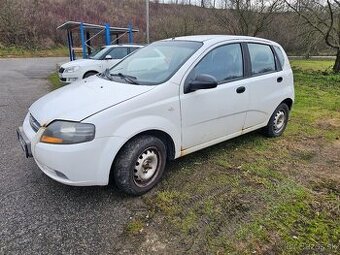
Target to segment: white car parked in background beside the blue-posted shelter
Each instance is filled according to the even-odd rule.
[[[59,79],[63,83],[71,83],[96,75],[142,47],[131,44],[105,46],[87,59],[77,59],[61,65],[58,71]]]

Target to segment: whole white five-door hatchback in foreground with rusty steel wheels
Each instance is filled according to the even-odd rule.
[[[40,98],[17,134],[26,156],[54,180],[107,185],[112,175],[137,195],[161,179],[168,159],[260,128],[280,136],[293,101],[279,44],[179,37]]]

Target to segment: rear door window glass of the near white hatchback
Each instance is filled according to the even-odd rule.
[[[269,45],[249,43],[249,54],[251,61],[251,73],[264,74],[274,72],[275,58]]]

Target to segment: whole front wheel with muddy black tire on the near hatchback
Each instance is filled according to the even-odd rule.
[[[141,135],[129,141],[113,164],[118,189],[130,195],[142,195],[152,189],[162,178],[166,155],[166,146],[157,137]]]

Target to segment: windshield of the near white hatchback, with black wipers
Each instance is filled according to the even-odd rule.
[[[156,85],[170,79],[202,43],[191,41],[155,42],[140,49],[110,70],[114,81]]]

